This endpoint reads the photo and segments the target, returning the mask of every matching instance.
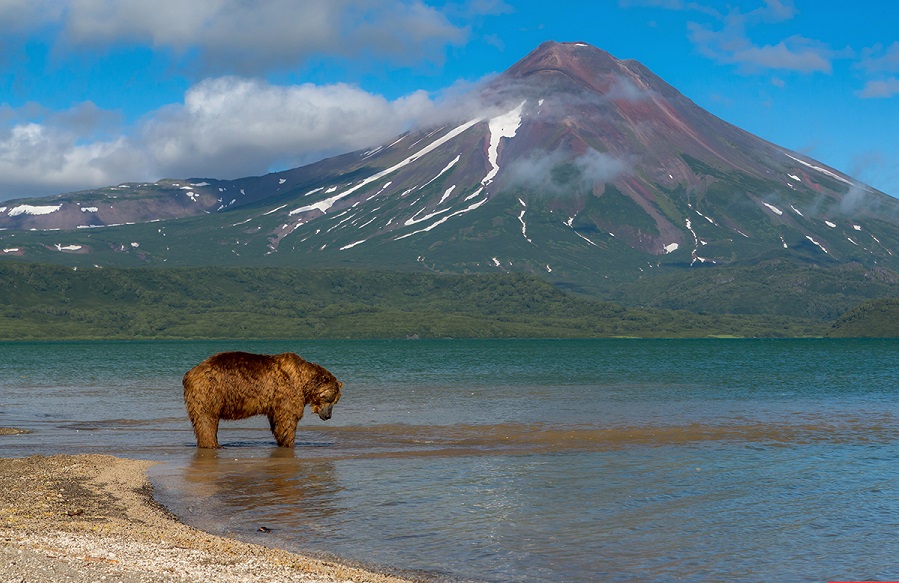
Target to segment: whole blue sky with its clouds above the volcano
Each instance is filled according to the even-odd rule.
[[[829,0],[0,0],[0,200],[382,143],[546,40],[899,196],[899,20]]]

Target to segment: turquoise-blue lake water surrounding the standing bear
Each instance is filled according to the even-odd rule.
[[[196,449],[181,376],[221,350],[322,364],[333,418]],[[3,457],[162,462],[211,532],[423,578],[899,579],[899,341],[0,343],[0,426],[33,432]]]

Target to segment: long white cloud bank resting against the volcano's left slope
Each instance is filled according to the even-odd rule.
[[[131,127],[110,127],[118,118],[90,103],[55,114],[7,106],[0,108],[0,200],[162,177],[264,174],[382,143],[436,111],[425,92],[389,101],[352,85],[240,77],[202,81],[183,103]]]

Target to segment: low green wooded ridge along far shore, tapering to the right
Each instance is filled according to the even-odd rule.
[[[829,322],[625,308],[527,274],[0,263],[0,339],[820,336]]]

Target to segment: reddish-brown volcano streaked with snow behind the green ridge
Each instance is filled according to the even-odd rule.
[[[9,201],[0,255],[527,271],[584,291],[772,260],[899,267],[896,199],[586,43],[540,45],[451,111],[266,176]]]

